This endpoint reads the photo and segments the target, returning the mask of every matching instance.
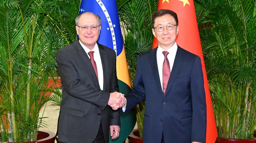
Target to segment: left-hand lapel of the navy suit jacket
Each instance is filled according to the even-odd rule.
[[[158,66],[157,66],[157,60],[156,60],[156,50],[158,47],[156,47],[155,49],[151,50],[151,55],[148,56],[148,59],[150,61],[150,65],[151,65],[151,69],[153,72],[153,77],[155,79],[155,83],[156,83],[156,87],[160,93],[161,96],[163,95],[163,91],[162,91],[162,87],[161,87],[161,83],[160,83],[160,78],[159,78],[159,72],[158,72]]]

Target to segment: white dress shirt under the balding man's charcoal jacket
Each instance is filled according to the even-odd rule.
[[[90,58],[88,53],[91,50],[89,48],[87,48],[84,44],[82,44],[82,42],[80,40],[79,40],[79,43],[83,47],[84,51],[87,53],[87,56]],[[102,68],[102,62],[101,62],[101,58],[100,58],[100,51],[99,51],[99,47],[98,47],[97,43],[95,44],[92,51],[94,51],[93,58],[94,58],[94,61],[96,62],[96,65],[97,65],[100,89],[103,90],[103,68]]]

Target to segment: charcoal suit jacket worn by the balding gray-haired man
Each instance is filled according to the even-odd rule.
[[[56,53],[63,94],[57,131],[60,142],[91,143],[102,121],[107,143],[110,125],[121,125],[120,111],[107,105],[110,93],[119,92],[116,53],[97,44],[103,66],[103,90],[100,90],[93,66],[79,40]]]

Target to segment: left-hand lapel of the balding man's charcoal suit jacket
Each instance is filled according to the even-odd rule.
[[[99,81],[98,81],[97,76],[95,74],[95,71],[94,71],[94,68],[92,66],[92,63],[91,63],[87,53],[84,51],[84,49],[80,45],[79,39],[75,42],[75,45],[76,45],[76,51],[78,52],[78,56],[80,57],[82,63],[84,64],[84,67],[86,68],[86,70],[90,74],[90,77],[92,78],[92,80],[95,83],[95,85],[98,88],[100,88],[100,84],[99,84]]]

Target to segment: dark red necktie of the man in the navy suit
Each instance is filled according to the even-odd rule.
[[[163,93],[165,93],[166,90],[166,86],[171,74],[171,70],[170,70],[170,64],[169,64],[169,60],[167,58],[167,55],[169,54],[169,52],[167,51],[163,51],[164,54],[164,63],[163,63]]]

